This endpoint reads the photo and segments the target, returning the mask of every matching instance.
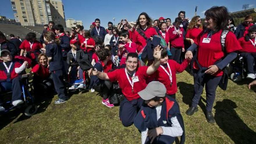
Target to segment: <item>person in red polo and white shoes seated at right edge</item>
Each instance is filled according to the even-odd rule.
[[[250,26],[249,33],[245,37],[239,38],[238,41],[242,47],[240,56],[246,59],[248,75],[246,78],[255,79],[256,74],[253,70],[253,63],[256,59],[256,25]]]

